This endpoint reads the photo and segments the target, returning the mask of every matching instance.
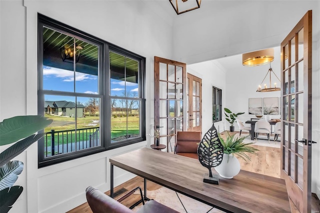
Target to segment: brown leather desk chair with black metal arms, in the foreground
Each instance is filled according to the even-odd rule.
[[[166,205],[163,205],[153,199],[147,201],[144,204],[143,196],[142,196],[142,190],[140,187],[136,187],[132,189],[131,191],[127,192],[117,200],[111,198],[110,196],[106,195],[102,191],[98,190],[97,188],[94,188],[92,186],[89,186],[85,189],[85,195],[86,200],[88,201],[88,204],[92,210],[93,213],[132,213],[134,212],[130,208],[126,207],[125,205],[121,204],[120,201],[127,198],[129,195],[131,195],[135,190],[139,189],[142,199],[142,206],[140,209],[138,209],[136,212],[139,213],[147,213],[147,212],[154,212],[154,213],[162,213],[162,212],[168,212],[168,213],[178,213],[178,211],[167,207]]]

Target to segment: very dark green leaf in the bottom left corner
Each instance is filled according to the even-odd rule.
[[[4,188],[0,191],[0,212],[6,213],[12,208],[15,200],[22,193],[23,187],[19,185],[15,185],[12,187]]]

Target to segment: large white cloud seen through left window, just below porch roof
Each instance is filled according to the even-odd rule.
[[[65,70],[65,69],[59,69],[59,68],[53,68],[53,67],[47,67],[45,66],[43,68],[43,75],[53,75],[53,77],[59,77],[62,78],[63,81],[73,81],[73,71]],[[86,79],[96,79],[95,76],[90,74],[84,74],[80,72],[75,72],[75,80],[76,81],[82,81]]]

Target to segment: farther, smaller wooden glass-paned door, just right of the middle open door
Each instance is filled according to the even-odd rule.
[[[186,79],[187,131],[201,131],[202,128],[201,87],[201,78],[188,73]]]

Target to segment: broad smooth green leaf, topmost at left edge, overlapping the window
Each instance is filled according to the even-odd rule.
[[[52,119],[42,115],[15,116],[0,122],[0,145],[10,144],[37,132],[50,123]]]

